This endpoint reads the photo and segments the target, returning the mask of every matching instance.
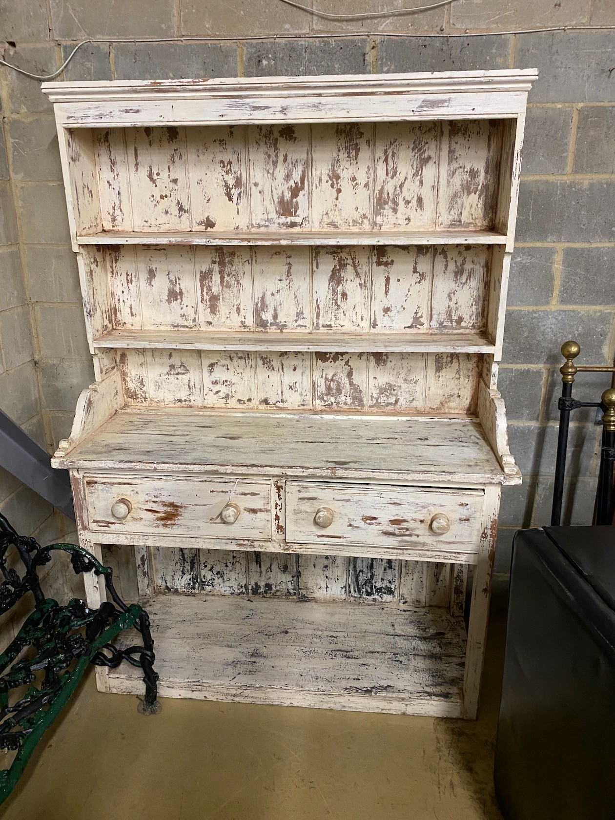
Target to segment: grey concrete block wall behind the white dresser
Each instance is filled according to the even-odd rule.
[[[406,0],[305,4],[348,15],[408,6]],[[615,352],[615,31],[506,32],[615,25],[613,0],[454,0],[412,16],[345,21],[281,0],[132,0],[111,14],[97,0],[22,0],[5,4],[2,16],[4,58],[34,73],[55,71],[80,39],[131,39],[80,48],[62,75],[66,80],[539,69],[528,108],[500,371],[511,448],[524,473],[521,487],[503,492],[496,570],[505,576],[515,529],[549,522],[559,347],[574,338],[583,362],[593,364],[612,363]],[[465,36],[473,32],[484,36]],[[139,42],[182,36],[207,41]],[[31,409],[32,426],[55,445],[70,429],[80,389],[93,378],[57,139],[36,81],[2,67],[0,90],[8,155],[3,165],[0,160],[0,185],[6,186],[0,201],[4,207],[11,194],[14,200],[14,210],[7,204],[2,253],[7,259],[13,253],[12,264],[23,266],[7,322],[15,324],[21,311],[33,330],[31,355],[24,340],[9,352],[15,362],[24,359],[16,365],[24,374],[23,398],[13,410],[25,422]],[[580,376],[577,395],[596,399],[607,386],[608,378]],[[599,427],[589,412],[575,418],[576,477],[567,482],[565,518],[587,523]]]

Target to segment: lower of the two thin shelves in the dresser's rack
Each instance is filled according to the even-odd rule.
[[[481,330],[434,330],[431,333],[348,333],[331,330],[110,330],[94,339],[94,348],[163,348],[180,350],[280,350],[324,353],[493,353],[494,343]]]

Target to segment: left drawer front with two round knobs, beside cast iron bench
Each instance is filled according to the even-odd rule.
[[[271,540],[271,481],[87,476],[84,486],[94,532]]]

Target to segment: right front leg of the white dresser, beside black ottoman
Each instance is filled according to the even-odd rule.
[[[489,622],[491,574],[494,566],[495,536],[498,528],[499,485],[485,487],[481,545],[474,567],[470,621],[467,626],[466,670],[463,679],[463,717],[476,718],[485,660],[485,641]]]

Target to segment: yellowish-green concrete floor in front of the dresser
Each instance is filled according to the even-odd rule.
[[[89,672],[2,818],[501,820],[503,637],[492,622],[476,722],[175,699],[144,717]]]

